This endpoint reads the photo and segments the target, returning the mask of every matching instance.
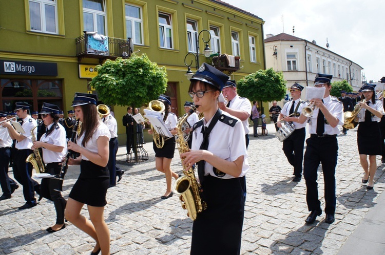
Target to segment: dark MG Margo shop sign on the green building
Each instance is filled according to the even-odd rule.
[[[0,74],[57,76],[57,64],[0,60]]]

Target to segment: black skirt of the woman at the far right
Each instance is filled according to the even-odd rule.
[[[377,121],[359,122],[357,144],[359,154],[381,155],[381,132]]]

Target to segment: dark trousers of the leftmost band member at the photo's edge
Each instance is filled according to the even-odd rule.
[[[0,148],[0,185],[5,196],[11,196],[11,187],[16,186],[16,182],[8,176],[9,160],[11,157],[11,147]]]

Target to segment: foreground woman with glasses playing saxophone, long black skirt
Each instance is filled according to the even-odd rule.
[[[204,118],[195,123],[191,151],[181,154],[198,165],[207,209],[192,225],[191,254],[239,254],[248,171],[242,122],[221,111],[218,96],[228,76],[203,63],[190,79],[189,95]]]

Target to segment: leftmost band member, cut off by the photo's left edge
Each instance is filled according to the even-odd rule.
[[[7,120],[7,114],[0,112],[0,121]],[[6,128],[0,127],[0,185],[3,195],[1,200],[10,199],[11,194],[18,188],[17,183],[8,176],[9,161],[11,158],[12,138]]]

